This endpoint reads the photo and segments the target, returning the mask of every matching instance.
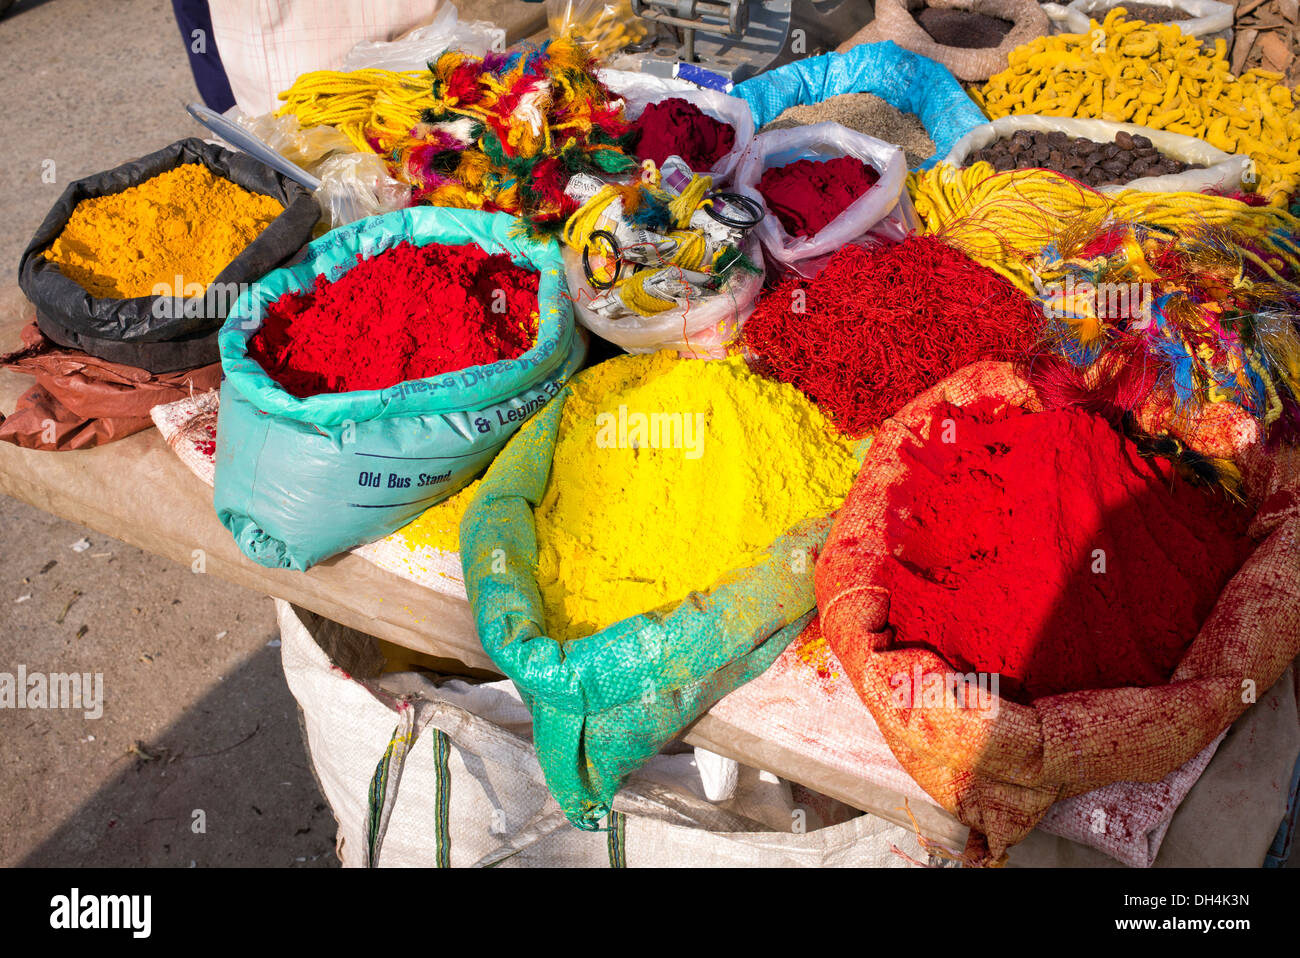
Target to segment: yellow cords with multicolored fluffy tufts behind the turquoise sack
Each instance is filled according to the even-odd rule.
[[[415,201],[514,213],[538,233],[576,209],[564,196],[573,173],[636,166],[623,101],[571,39],[484,57],[447,51],[425,71],[320,70],[281,99],[281,114],[334,125],[386,157]]]

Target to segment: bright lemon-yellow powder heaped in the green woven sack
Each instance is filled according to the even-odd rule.
[[[838,508],[858,471],[854,443],[802,393],[740,356],[620,356],[572,389],[536,512],[537,580],[559,641],[753,565],[792,525]],[[651,430],[654,413],[682,428]]]

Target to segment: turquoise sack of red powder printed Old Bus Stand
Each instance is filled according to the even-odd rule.
[[[536,295],[515,266],[536,273]],[[526,342],[516,320],[536,325]],[[248,558],[294,569],[468,485],[586,355],[554,240],[433,207],[325,234],[240,296],[220,346],[213,504]]]

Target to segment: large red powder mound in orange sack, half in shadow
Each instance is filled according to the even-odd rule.
[[[1244,508],[1097,416],[982,400],[930,437],[889,494],[889,623],[1011,701],[1169,681],[1253,549]]]

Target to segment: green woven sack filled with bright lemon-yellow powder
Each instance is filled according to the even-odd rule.
[[[798,390],[671,352],[580,373],[502,450],[460,525],[465,590],[575,825],[807,624],[857,468]]]

